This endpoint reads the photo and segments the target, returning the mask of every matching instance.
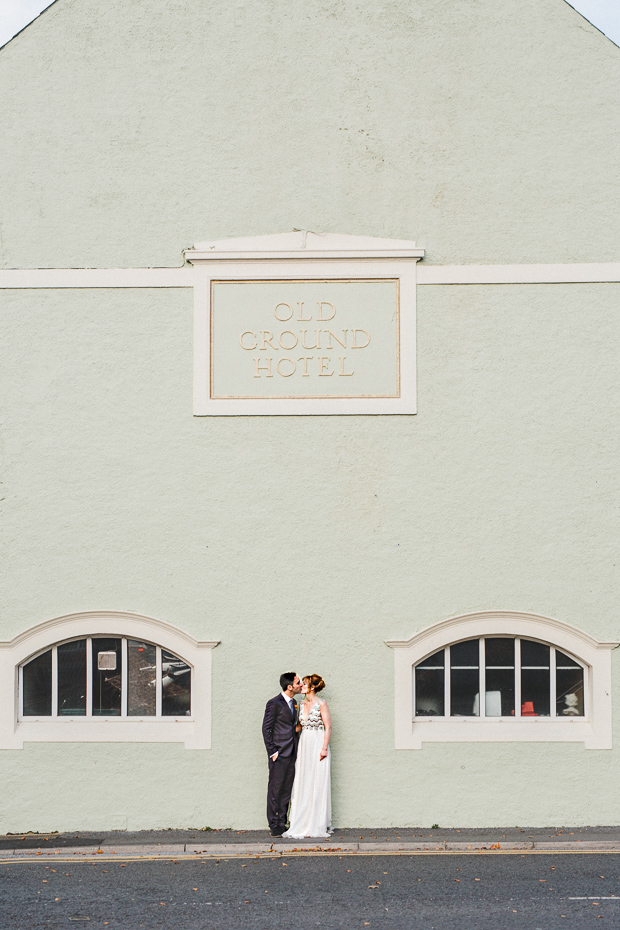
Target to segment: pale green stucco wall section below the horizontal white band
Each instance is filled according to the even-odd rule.
[[[5,829],[261,826],[291,665],[328,681],[341,825],[620,822],[617,749],[396,752],[383,645],[492,608],[618,637],[619,294],[421,287],[417,416],[209,419],[190,291],[5,292],[3,635],[105,606],[222,640],[211,751],[6,751]]]

